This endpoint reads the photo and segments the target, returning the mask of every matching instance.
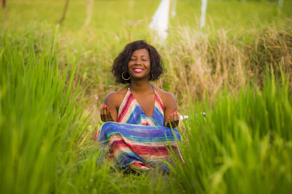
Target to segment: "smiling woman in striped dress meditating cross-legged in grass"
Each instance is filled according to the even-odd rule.
[[[176,142],[180,133],[170,128],[179,124],[175,97],[149,82],[163,73],[157,50],[144,40],[129,43],[114,60],[112,73],[128,86],[109,93],[101,108],[106,123],[94,140],[108,150],[106,157],[124,168],[150,169],[170,160],[170,145],[183,162]]]

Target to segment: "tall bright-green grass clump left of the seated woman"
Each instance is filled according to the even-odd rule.
[[[66,82],[68,71],[59,73],[52,53],[36,57],[32,43],[22,53],[4,39],[0,51],[1,193],[44,193],[85,124],[72,90],[76,65]]]

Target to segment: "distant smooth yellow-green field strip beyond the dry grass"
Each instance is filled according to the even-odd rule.
[[[133,2],[131,4],[131,2]],[[158,0],[96,0],[94,1],[91,27],[99,35],[114,35],[122,32],[122,26],[129,21],[143,20],[139,28],[151,21]],[[9,28],[25,28],[34,21],[47,21],[55,27],[63,11],[64,1],[60,0],[10,0],[7,2]],[[206,25],[214,29],[240,29],[253,25],[281,22],[290,18],[292,1],[285,1],[283,9],[277,10],[277,3],[208,1]],[[170,26],[177,24],[197,27],[201,16],[201,1],[178,0],[177,16],[170,18]],[[2,17],[2,15],[0,16]],[[71,0],[64,31],[79,30],[86,18],[86,1]],[[0,18],[2,19],[2,18]],[[135,29],[137,31],[139,29]],[[141,32],[141,31],[140,31]]]

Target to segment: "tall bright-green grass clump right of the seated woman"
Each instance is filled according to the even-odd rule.
[[[281,84],[279,84],[281,81]],[[292,96],[288,79],[267,71],[263,90],[219,95],[213,107],[195,103],[186,123],[185,165],[176,174],[187,193],[292,192]],[[206,111],[194,117],[196,112]]]

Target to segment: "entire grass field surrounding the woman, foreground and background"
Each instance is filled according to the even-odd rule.
[[[292,193],[292,1],[178,0],[164,45],[147,29],[158,0],[7,0],[0,22],[0,193]],[[3,14],[0,21],[3,20]],[[137,175],[97,162],[92,136],[110,67],[130,41],[164,58],[185,165]],[[53,45],[53,46],[52,46]],[[56,81],[58,80],[58,81]],[[95,99],[94,95],[98,96]],[[91,115],[89,113],[92,111]],[[206,112],[204,119],[200,112]],[[89,116],[88,116],[89,115]]]

